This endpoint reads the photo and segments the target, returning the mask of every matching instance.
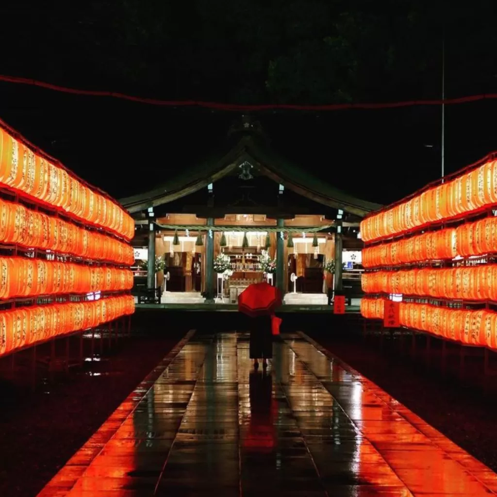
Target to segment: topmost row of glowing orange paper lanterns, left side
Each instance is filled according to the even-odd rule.
[[[127,240],[134,236],[133,218],[116,202],[83,185],[1,128],[0,184]]]

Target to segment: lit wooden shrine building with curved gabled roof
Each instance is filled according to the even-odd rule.
[[[267,281],[285,305],[358,305],[361,219],[355,199],[276,155],[243,117],[224,152],[144,194],[121,199],[136,233],[137,303],[230,304]]]

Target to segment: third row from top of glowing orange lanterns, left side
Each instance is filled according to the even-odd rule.
[[[28,257],[0,257],[0,299],[114,292],[133,287],[129,269]]]

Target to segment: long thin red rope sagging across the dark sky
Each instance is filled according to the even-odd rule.
[[[329,111],[329,110],[347,110],[347,109],[392,109],[398,107],[412,107],[414,105],[442,105],[442,104],[459,104],[476,102],[479,100],[496,99],[497,93],[484,93],[480,95],[470,95],[459,98],[445,98],[443,100],[406,100],[403,102],[387,102],[387,103],[332,103],[327,105],[296,105],[296,104],[258,104],[258,105],[242,105],[232,103],[219,102],[204,102],[199,100],[158,100],[154,98],[144,98],[139,96],[126,95],[114,91],[99,91],[99,90],[80,90],[69,88],[67,86],[59,86],[42,81],[32,80],[28,78],[19,78],[16,76],[1,76],[0,81],[7,83],[30,84],[40,86],[42,88],[61,91],[63,93],[72,93],[76,95],[87,96],[110,96],[120,98],[122,100],[130,100],[132,102],[147,103],[150,105],[162,105],[166,107],[204,107],[208,109],[226,110],[226,111],[254,111],[254,110],[309,110],[309,111]]]

